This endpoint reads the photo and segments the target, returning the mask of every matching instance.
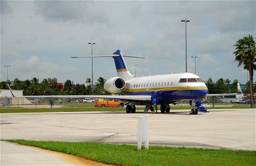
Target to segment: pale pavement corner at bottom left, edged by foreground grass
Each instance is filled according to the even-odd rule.
[[[75,155],[1,141],[1,165],[108,165]]]

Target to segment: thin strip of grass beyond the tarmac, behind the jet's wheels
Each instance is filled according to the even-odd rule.
[[[245,109],[250,108],[248,106],[234,106],[234,107],[206,107],[206,109]],[[160,107],[158,108],[160,110]],[[191,109],[190,106],[180,105],[171,106],[172,110],[180,110],[180,109]],[[4,107],[0,108],[0,113],[31,113],[31,112],[88,112],[88,111],[116,111],[116,110],[125,110],[125,107],[62,107],[62,108],[13,108],[13,107]],[[144,107],[137,107],[136,110],[144,110]]]

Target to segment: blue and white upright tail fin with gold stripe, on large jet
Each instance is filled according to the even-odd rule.
[[[127,79],[134,78],[134,76],[129,72],[125,64],[125,60],[124,60],[124,57],[122,56],[121,51],[117,49],[117,51],[114,52],[113,54],[119,55],[119,56],[113,57],[116,65],[117,76],[124,78],[125,81]]]

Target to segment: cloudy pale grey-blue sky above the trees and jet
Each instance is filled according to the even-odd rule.
[[[85,83],[91,59],[71,56],[123,54],[137,76],[185,72],[187,18],[188,72],[203,80],[238,79],[247,71],[234,61],[238,39],[255,38],[255,1],[0,1],[1,78],[56,77]],[[254,74],[256,75],[256,74]],[[113,59],[93,58],[94,82],[116,76]],[[254,77],[255,80],[255,77]]]

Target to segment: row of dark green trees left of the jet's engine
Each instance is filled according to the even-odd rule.
[[[97,82],[91,84],[91,79],[86,79],[85,84],[74,84],[73,81],[68,79],[63,88],[59,87],[57,78],[45,78],[40,83],[38,78],[27,79],[24,81],[15,78],[13,81],[0,82],[0,89],[8,89],[10,85],[11,89],[23,90],[23,95],[90,95],[90,94],[110,94],[104,89],[106,79],[100,77]]]

